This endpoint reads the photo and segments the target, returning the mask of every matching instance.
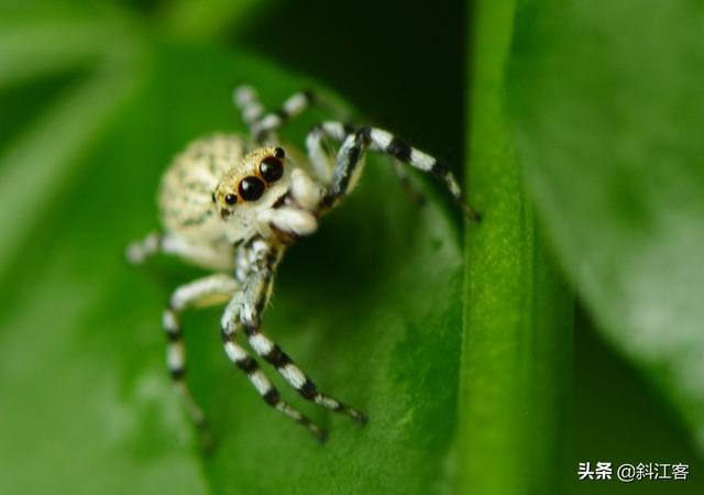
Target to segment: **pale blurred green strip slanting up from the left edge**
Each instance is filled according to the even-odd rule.
[[[0,153],[0,275],[61,193],[81,153],[105,131],[138,85],[129,64],[100,70],[44,109]]]

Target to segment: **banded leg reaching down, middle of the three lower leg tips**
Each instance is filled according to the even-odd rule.
[[[240,310],[240,298],[234,297],[228,305],[222,317],[221,337],[226,354],[232,364],[246,374],[249,381],[266,404],[288,416],[294,421],[302,425],[320,442],[324,442],[327,439],[324,430],[308,419],[308,417],[294,406],[284,402],[276,387],[274,387],[268,377],[260,369],[258,363],[244,350],[244,348],[235,342],[234,338],[239,326],[238,315]]]

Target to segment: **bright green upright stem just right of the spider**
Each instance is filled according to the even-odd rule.
[[[504,114],[514,2],[473,12],[458,493],[562,493],[572,297],[524,194]]]

